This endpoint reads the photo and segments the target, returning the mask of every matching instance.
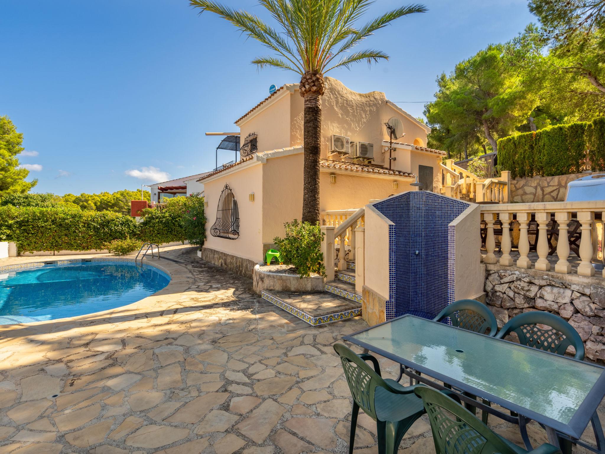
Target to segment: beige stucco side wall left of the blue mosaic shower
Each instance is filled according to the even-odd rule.
[[[388,300],[388,226],[393,223],[365,205],[365,286]]]

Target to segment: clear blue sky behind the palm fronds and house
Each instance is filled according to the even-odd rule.
[[[253,0],[224,2],[263,16]],[[407,3],[378,0],[368,18]],[[328,75],[352,90],[425,102],[437,74],[535,21],[526,0],[424,4],[427,13],[368,38],[390,61]],[[34,192],[136,189],[208,171],[217,137],[206,131],[237,130],[234,120],[271,84],[299,81],[258,71],[249,62],[267,51],[187,0],[3,0],[0,11],[0,115],[24,133]],[[422,114],[422,103],[399,106]]]

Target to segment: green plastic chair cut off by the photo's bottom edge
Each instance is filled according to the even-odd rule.
[[[521,454],[525,449],[492,432],[473,413],[459,403],[428,386],[417,386],[414,393],[422,399],[431,421],[437,454]],[[545,443],[531,454],[561,454]]]

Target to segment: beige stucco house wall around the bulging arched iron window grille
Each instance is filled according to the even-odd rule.
[[[211,248],[227,254],[237,255],[255,262],[263,257],[262,241],[262,211],[263,206],[263,165],[253,161],[242,164],[237,172],[226,172],[224,176],[204,182],[204,200],[208,202],[206,208],[206,243],[204,248]],[[244,167],[246,166],[246,167]],[[226,240],[213,237],[210,228],[217,217],[217,205],[224,185],[228,184],[240,211],[240,237],[237,240]],[[255,193],[254,202],[249,202],[250,192]]]

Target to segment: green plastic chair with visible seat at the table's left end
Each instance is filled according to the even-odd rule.
[[[342,344],[334,349],[353,396],[349,454],[353,453],[359,409],[376,421],[379,454],[396,454],[405,432],[424,414],[422,401],[414,394],[417,386],[404,387],[390,378],[382,378],[378,360],[370,354],[358,355]],[[372,369],[365,361],[371,361]]]

